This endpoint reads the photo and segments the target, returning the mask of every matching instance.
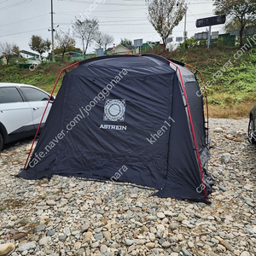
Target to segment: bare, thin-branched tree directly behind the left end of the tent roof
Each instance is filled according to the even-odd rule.
[[[76,19],[73,22],[73,34],[83,45],[84,58],[88,47],[96,40],[99,33],[99,21],[96,19]]]

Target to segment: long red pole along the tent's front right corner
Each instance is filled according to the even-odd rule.
[[[175,63],[173,63],[172,61],[170,61],[170,63],[172,65],[174,65],[175,67],[177,67],[177,65]],[[202,182],[202,185],[203,185],[203,188],[204,188],[205,198],[207,199],[207,189],[206,189],[206,185],[205,185],[205,181],[204,181],[204,176],[203,176],[203,173],[202,173],[201,160],[200,160],[200,155],[199,155],[198,147],[197,147],[197,143],[196,143],[195,129],[194,129],[194,125],[193,125],[193,122],[192,122],[192,116],[191,116],[191,112],[190,112],[190,108],[189,108],[188,96],[187,96],[187,93],[186,93],[185,84],[183,82],[182,73],[181,73],[179,67],[177,67],[177,71],[178,71],[179,77],[181,79],[181,84],[182,84],[182,87],[183,87],[183,93],[184,93],[184,97],[185,97],[185,101],[186,101],[186,105],[187,105],[186,108],[188,109],[188,114],[189,114],[189,123],[190,123],[191,131],[192,131],[192,136],[193,136],[193,140],[194,140],[194,144],[195,144],[195,152],[196,152],[198,166],[199,166],[200,173],[201,173],[201,182]]]

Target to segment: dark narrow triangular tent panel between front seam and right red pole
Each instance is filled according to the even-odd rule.
[[[196,190],[201,185],[201,176],[190,132],[188,113],[179,82],[174,85],[172,119],[175,122],[172,123],[170,136],[166,185],[156,195],[204,201],[203,192],[198,193]]]

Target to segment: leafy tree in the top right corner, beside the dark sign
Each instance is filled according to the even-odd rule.
[[[230,17],[230,26],[239,24],[240,47],[242,47],[243,31],[256,18],[256,0],[215,0],[213,5],[216,6],[216,15]]]

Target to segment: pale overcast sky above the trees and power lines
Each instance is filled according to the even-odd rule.
[[[99,20],[101,32],[113,35],[114,44],[120,38],[143,38],[160,41],[160,36],[147,19],[145,0],[52,0],[55,30],[67,31],[75,17],[85,13],[87,18]],[[214,15],[212,0],[186,0],[188,37],[205,32],[207,27],[196,28],[195,20]],[[0,42],[17,44],[20,49],[31,51],[32,35],[51,40],[51,0],[0,0]],[[84,15],[84,17],[86,17]],[[221,31],[223,25],[212,26],[212,32]],[[172,36],[183,37],[184,19],[174,28]],[[77,47],[81,48],[79,40]],[[108,47],[111,47],[109,45]],[[93,52],[94,45],[88,53]]]

